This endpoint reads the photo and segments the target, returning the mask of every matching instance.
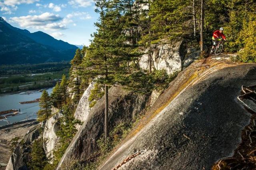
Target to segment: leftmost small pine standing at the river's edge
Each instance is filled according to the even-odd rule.
[[[42,92],[39,107],[40,110],[37,112],[38,115],[38,121],[45,121],[48,119],[48,117],[51,115],[51,101],[50,96],[46,90]]]

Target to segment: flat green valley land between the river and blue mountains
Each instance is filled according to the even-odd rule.
[[[53,87],[63,74],[68,77],[69,63],[0,66],[0,93]]]

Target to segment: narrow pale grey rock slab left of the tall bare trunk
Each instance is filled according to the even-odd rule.
[[[74,114],[74,117],[76,119],[79,119],[82,122],[86,121],[86,119],[92,109],[91,107],[89,107],[90,102],[89,102],[88,98],[89,98],[89,96],[91,94],[91,90],[94,88],[95,84],[96,84],[96,79],[94,79],[90,83],[88,88],[85,90],[82,98],[80,99],[78,106],[76,107],[76,112]]]

